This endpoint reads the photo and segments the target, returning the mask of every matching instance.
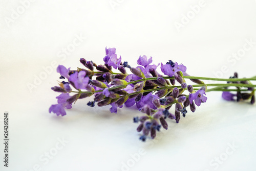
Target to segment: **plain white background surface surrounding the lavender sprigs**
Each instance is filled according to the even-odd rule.
[[[100,64],[105,46],[116,47],[131,65],[147,55],[155,63],[183,63],[194,76],[228,78],[234,71],[241,78],[255,76],[256,44],[232,57],[243,52],[246,40],[256,41],[254,0],[206,0],[180,29],[175,23],[182,24],[199,1],[114,0],[119,2],[114,7],[109,0],[34,1],[26,9],[20,2],[0,2],[1,137],[4,112],[10,116],[9,167],[3,166],[1,141],[1,170],[255,169],[255,106],[225,102],[221,92],[207,93],[207,103],[195,113],[179,124],[168,121],[169,129],[146,143],[138,140],[132,122],[140,115],[136,110],[111,114],[109,107],[90,108],[83,99],[66,116],[48,113],[58,95],[50,89],[59,77],[51,63],[76,69],[82,57]],[[63,56],[77,35],[86,38]],[[35,85],[39,76],[44,79]],[[56,152],[58,138],[68,142]],[[134,161],[131,155],[140,148],[144,153]],[[46,162],[49,152],[57,154]]]

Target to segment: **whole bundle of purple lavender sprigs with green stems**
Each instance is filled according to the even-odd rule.
[[[86,68],[70,70],[62,65],[57,67],[59,79],[64,81],[52,87],[52,90],[61,94],[56,97],[58,104],[49,108],[50,113],[64,116],[65,108],[71,109],[77,100],[92,95],[94,100],[88,102],[88,106],[94,107],[95,103],[98,107],[110,105],[112,113],[117,113],[117,109],[123,105],[136,105],[144,114],[134,117],[133,121],[139,123],[137,131],[142,132],[139,139],[145,141],[149,135],[155,138],[161,127],[168,129],[166,119],[175,119],[179,123],[181,114],[185,117],[188,107],[191,112],[195,112],[196,106],[207,101],[206,92],[223,91],[222,97],[227,101],[255,102],[256,85],[250,81],[255,81],[256,77],[238,79],[236,72],[229,79],[192,77],[186,73],[186,66],[172,60],[155,65],[152,64],[152,57],[147,59],[146,56],[140,56],[138,66],[132,67],[128,62],[122,62],[121,56],[117,57],[115,48],[105,48],[105,54],[104,65],[81,58],[80,63]],[[159,65],[162,73],[156,70]],[[113,71],[113,68],[118,71]],[[127,70],[132,74],[127,74]],[[186,79],[195,84],[187,85]],[[205,84],[201,80],[227,83]],[[173,106],[174,114],[169,111]]]

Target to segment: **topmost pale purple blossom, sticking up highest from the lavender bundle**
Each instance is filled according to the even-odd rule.
[[[115,69],[120,65],[121,63],[121,56],[120,58],[117,58],[116,55],[116,48],[106,48],[105,47],[106,56],[103,58],[103,61],[105,64],[108,64],[109,66],[113,66]]]

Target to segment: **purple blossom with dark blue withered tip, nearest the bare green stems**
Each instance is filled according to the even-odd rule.
[[[168,62],[167,62],[168,63]],[[178,71],[182,71],[185,72],[187,70],[186,66],[184,66],[183,64],[178,65],[177,62],[175,62],[175,64],[163,64],[161,63],[161,70],[163,72],[163,74],[169,76],[169,77],[178,77],[177,72]]]

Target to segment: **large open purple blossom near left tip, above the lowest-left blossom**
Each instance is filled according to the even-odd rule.
[[[91,86],[88,84],[89,77],[85,77],[86,72],[80,71],[75,72],[74,74],[70,75],[69,81],[73,82],[76,89],[87,89],[88,91],[91,90]]]

